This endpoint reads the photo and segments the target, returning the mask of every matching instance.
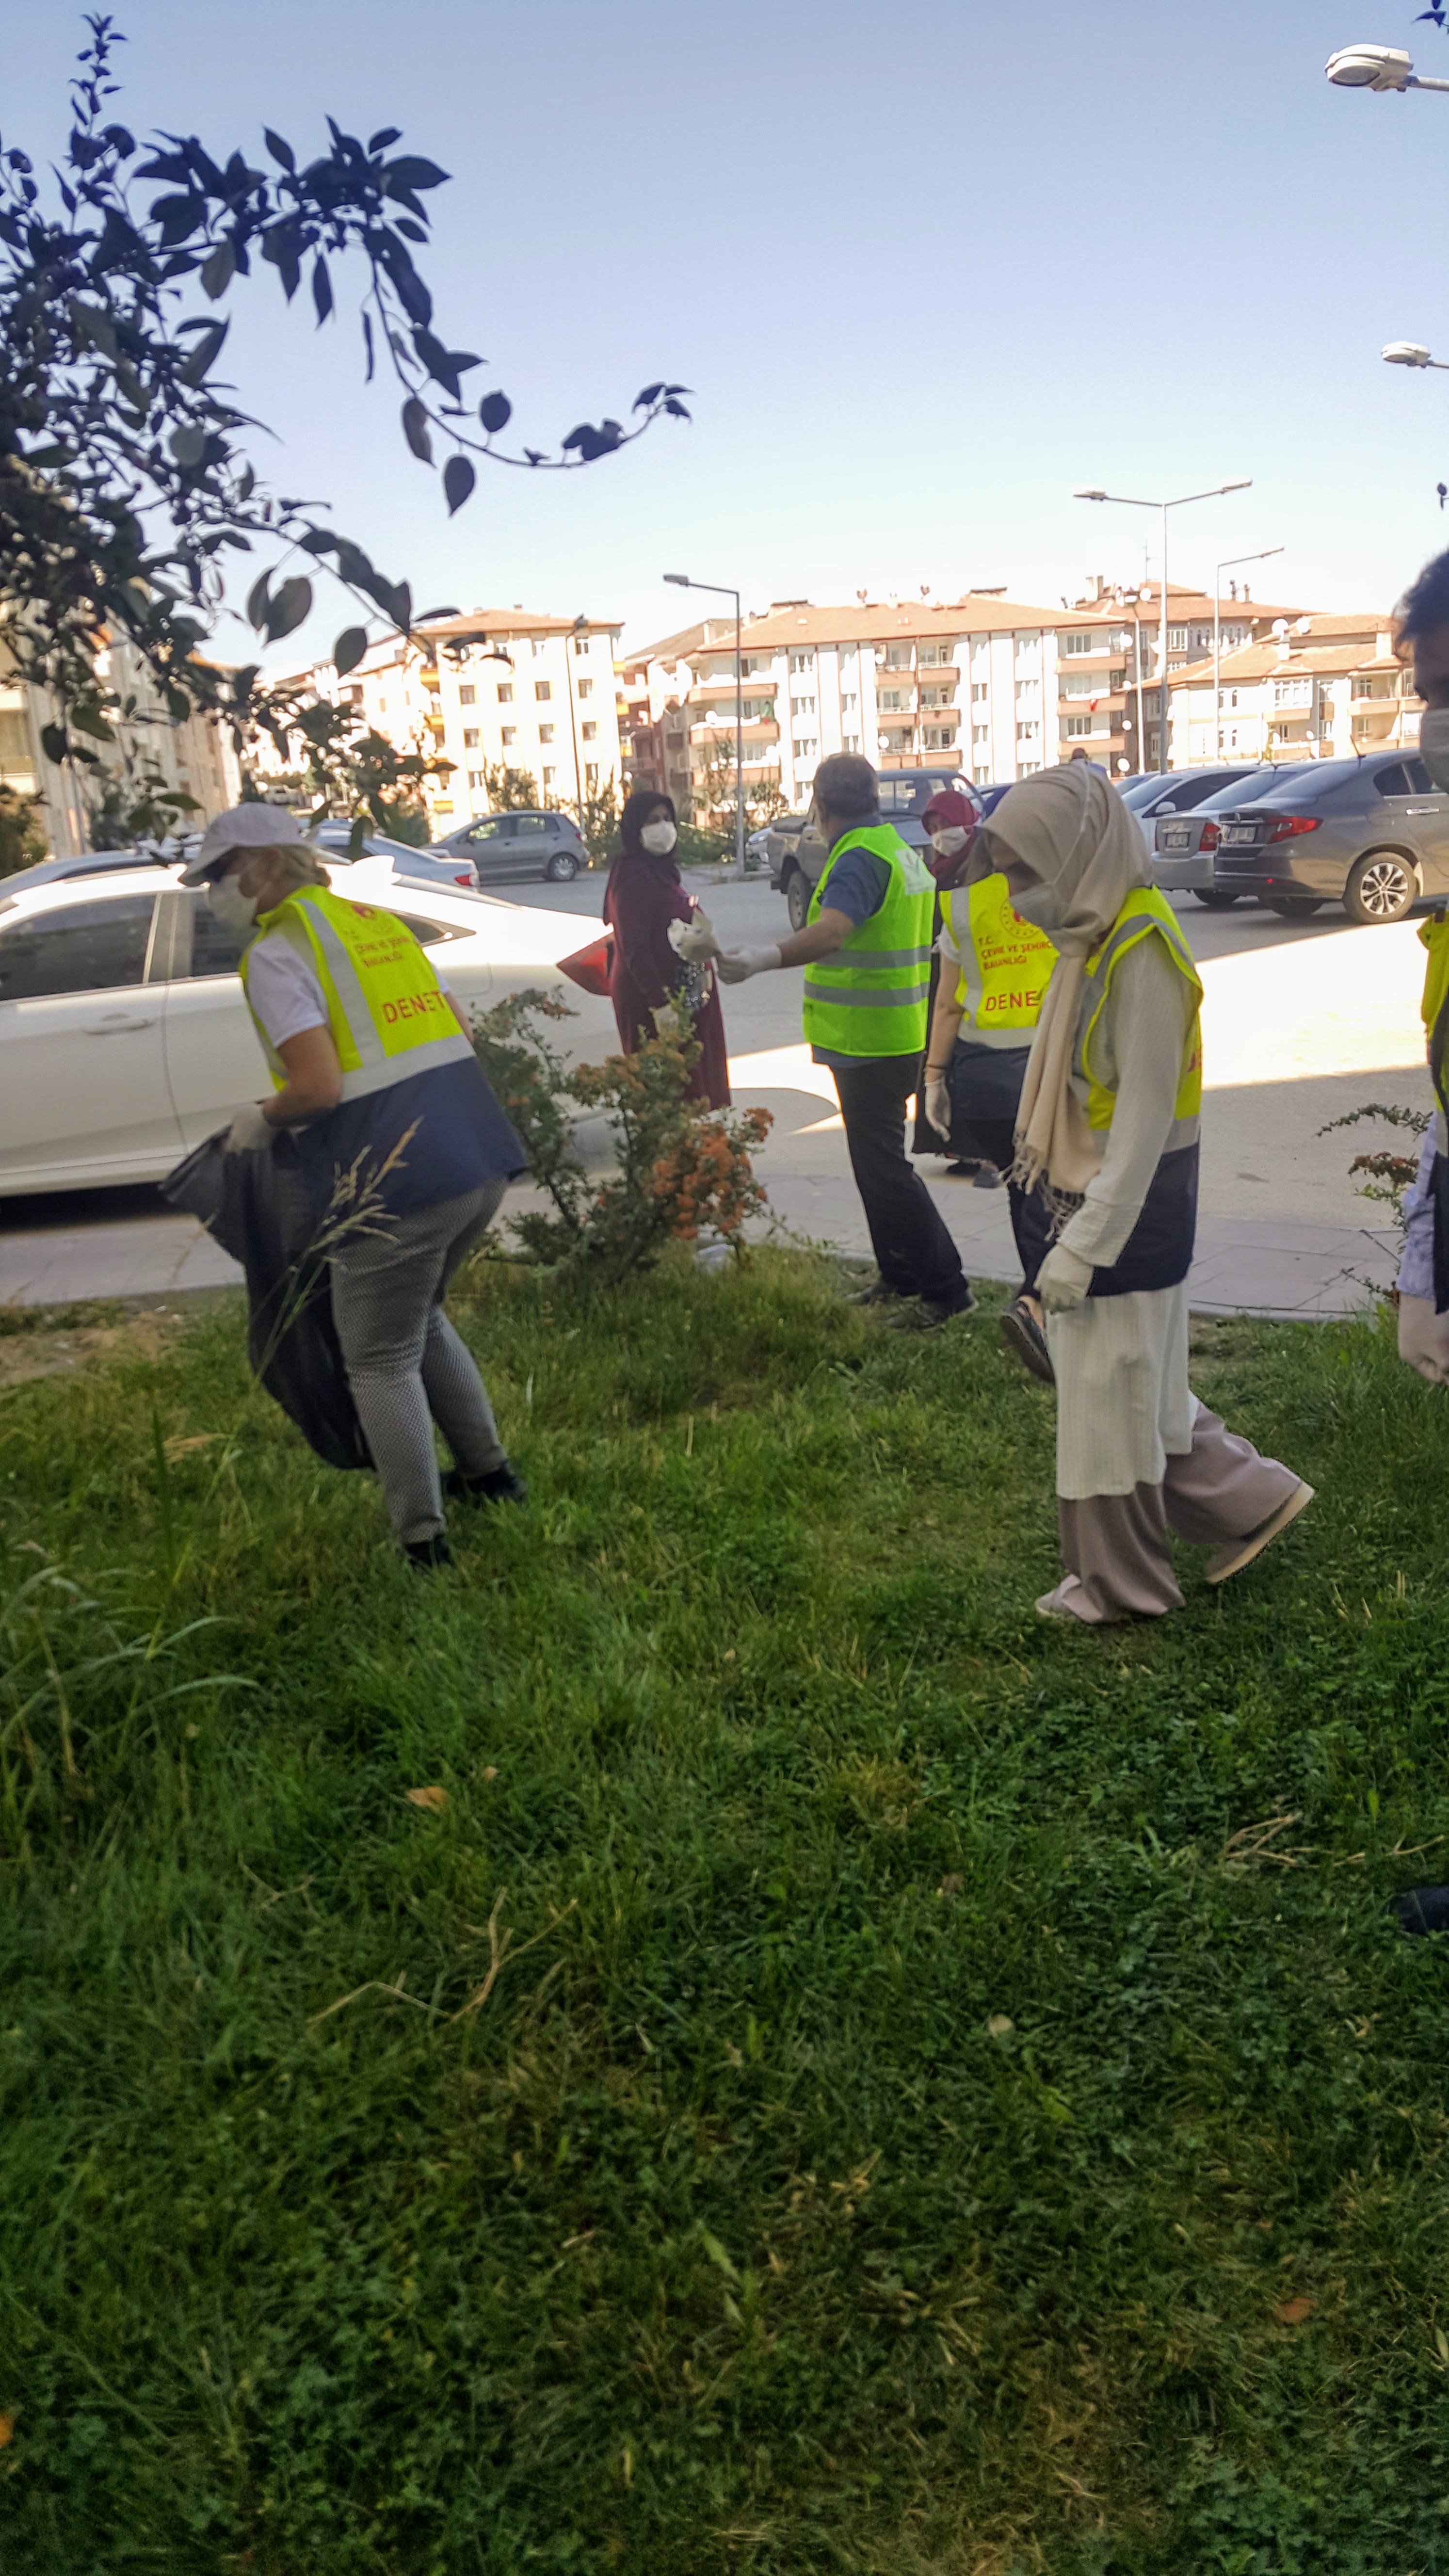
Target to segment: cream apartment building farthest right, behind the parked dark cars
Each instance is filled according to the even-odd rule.
[[[1212,641],[1212,639],[1209,639]],[[1395,659],[1385,611],[1274,618],[1271,631],[1168,675],[1173,768],[1207,760],[1351,760],[1418,747],[1413,670]]]

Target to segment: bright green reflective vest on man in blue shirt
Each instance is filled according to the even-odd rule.
[[[833,958],[804,969],[804,1036],[833,1056],[918,1056],[931,992],[931,871],[892,824],[859,824],[830,850],[810,922],[830,902],[830,876],[846,850],[884,858],[890,886],[879,912],[856,922]]]

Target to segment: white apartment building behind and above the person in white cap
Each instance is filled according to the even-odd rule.
[[[356,708],[394,750],[451,760],[451,773],[423,788],[428,827],[443,837],[487,814],[492,765],[523,770],[547,806],[619,786],[616,641],[619,623],[598,618],[474,608],[382,636],[343,680],[333,662],[297,680]],[[289,760],[263,750],[255,765],[266,778]]]

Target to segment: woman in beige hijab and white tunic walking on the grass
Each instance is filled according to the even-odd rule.
[[[1160,1615],[1183,1600],[1168,1530],[1212,1546],[1220,1584],[1312,1502],[1189,1388],[1201,984],[1132,817],[1085,762],[1000,799],[972,853],[987,868],[1057,948],[1016,1118],[1016,1180],[1057,1229],[1039,1296],[1067,1571],[1036,1610]]]

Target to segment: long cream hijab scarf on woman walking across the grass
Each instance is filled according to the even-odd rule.
[[[1042,881],[1044,896],[1031,899],[1031,917],[1057,948],[1021,1084],[1011,1177],[1024,1190],[1044,1190],[1062,1216],[1098,1170],[1070,1079],[1083,966],[1132,889],[1152,878],[1132,814],[1085,760],[1024,778],[993,809],[972,850],[972,878],[1011,860]]]

